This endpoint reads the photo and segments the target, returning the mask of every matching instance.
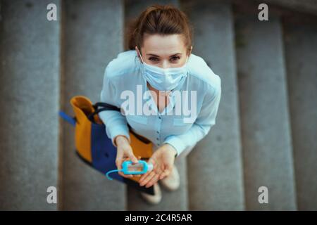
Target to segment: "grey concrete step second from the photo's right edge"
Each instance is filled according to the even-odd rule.
[[[247,210],[296,210],[282,27],[236,16],[237,69]],[[268,204],[259,203],[261,186]]]

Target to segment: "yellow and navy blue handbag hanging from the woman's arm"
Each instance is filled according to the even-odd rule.
[[[75,127],[75,148],[77,155],[84,160],[89,166],[97,169],[102,174],[109,170],[117,169],[116,167],[116,146],[113,146],[111,139],[106,135],[106,126],[101,121],[98,113],[104,110],[118,110],[114,105],[108,103],[95,103],[94,105],[85,96],[74,96],[70,100],[75,117],[70,117],[60,111],[59,115]],[[133,153],[141,160],[148,160],[152,155],[152,143],[144,136],[140,136],[132,131],[130,124],[131,147]],[[106,176],[105,176],[106,177]],[[125,178],[118,173],[111,175],[111,178],[121,181],[129,186],[137,188],[144,193],[154,195],[153,186],[145,188],[139,186],[139,178]]]

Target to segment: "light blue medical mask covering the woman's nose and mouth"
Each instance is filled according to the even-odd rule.
[[[141,54],[139,53],[143,63],[142,75],[147,82],[154,87],[154,89],[160,91],[170,91],[175,89],[180,82],[182,82],[187,77],[187,60],[186,63],[180,68],[159,68],[158,66],[149,65],[144,62]]]

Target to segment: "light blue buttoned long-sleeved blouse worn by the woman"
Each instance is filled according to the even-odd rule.
[[[213,73],[203,58],[194,54],[189,56],[187,68],[187,77],[173,89],[168,96],[170,103],[160,113],[149,94],[147,81],[142,77],[142,63],[135,50],[119,53],[117,58],[108,63],[100,100],[122,108],[122,113],[103,111],[99,113],[99,117],[106,124],[106,134],[111,138],[113,146],[116,146],[114,139],[118,135],[124,135],[130,141],[127,122],[135,133],[149,139],[154,148],[168,143],[177,150],[178,155],[209,133],[216,123],[218,113],[221,96],[220,77]],[[183,95],[188,91],[187,96],[181,95],[177,98],[176,91]],[[196,91],[197,98],[191,96],[191,93],[194,93],[191,91]],[[143,96],[144,93],[147,94]],[[182,101],[183,105],[184,99],[188,102],[187,111],[178,111],[178,103]],[[130,103],[128,107],[127,103]],[[137,112],[136,108],[140,103],[143,108],[149,109],[148,113],[144,113],[145,110]],[[134,115],[131,112],[135,112]],[[190,120],[184,120],[185,118]]]

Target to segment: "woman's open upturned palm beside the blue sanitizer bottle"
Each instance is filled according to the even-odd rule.
[[[165,178],[172,172],[175,155],[177,151],[173,146],[168,143],[161,146],[156,150],[152,157],[149,159],[149,163],[153,165],[153,170],[143,174],[139,179],[139,185],[149,188],[150,186],[156,184],[160,179]]]

